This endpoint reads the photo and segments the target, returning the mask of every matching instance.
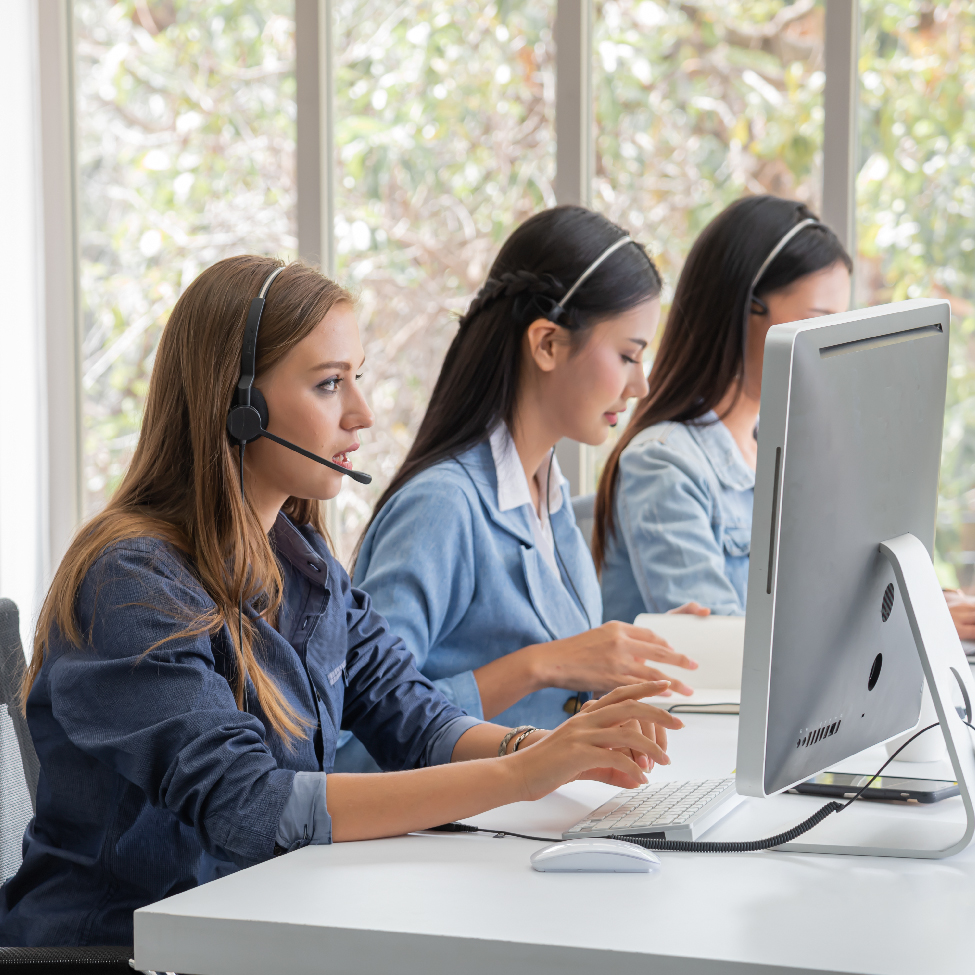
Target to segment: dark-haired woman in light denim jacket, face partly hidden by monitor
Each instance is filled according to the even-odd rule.
[[[696,600],[742,615],[768,330],[846,311],[853,264],[802,203],[738,200],[688,255],[649,378],[603,470],[603,618]]]

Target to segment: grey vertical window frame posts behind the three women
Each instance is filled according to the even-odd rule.
[[[589,205],[594,159],[592,0],[558,0],[556,40],[556,199]],[[38,67],[47,443],[43,560],[57,565],[81,517],[81,403],[74,42],[71,0],[40,0]],[[335,266],[334,63],[332,0],[295,0],[298,253]],[[855,247],[859,47],[858,0],[826,0],[823,96],[823,218]],[[595,489],[591,452],[563,441],[559,463],[573,495]]]

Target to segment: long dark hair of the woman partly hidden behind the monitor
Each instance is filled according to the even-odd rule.
[[[620,454],[630,441],[655,423],[700,419],[733,383],[741,392],[750,299],[780,291],[837,261],[853,270],[836,234],[815,223],[783,247],[751,290],[775,245],[791,227],[808,219],[815,215],[803,203],[749,196],[718,214],[694,242],[650,372],[650,391],[634,410],[599,479],[592,549],[597,569],[602,568],[607,539],[615,533],[613,497]]]

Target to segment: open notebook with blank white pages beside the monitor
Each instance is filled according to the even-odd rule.
[[[668,677],[682,680],[695,691],[733,688],[735,692],[740,692],[741,661],[745,646],[744,616],[641,613],[633,622],[636,626],[653,630],[678,653],[697,661],[697,670],[684,670],[681,667],[652,662],[653,667],[663,671]],[[737,699],[736,696],[735,700]]]

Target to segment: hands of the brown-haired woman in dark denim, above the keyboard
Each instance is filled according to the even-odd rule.
[[[618,687],[530,745],[504,759],[517,767],[523,799],[540,799],[576,779],[596,779],[633,789],[654,763],[669,765],[667,731],[684,725],[676,716],[641,701],[666,690],[665,681]]]

